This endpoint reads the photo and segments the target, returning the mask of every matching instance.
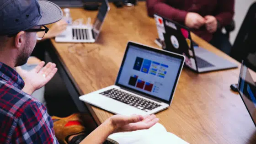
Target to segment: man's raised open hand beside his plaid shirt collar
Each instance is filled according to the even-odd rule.
[[[53,78],[57,72],[57,68],[55,68],[56,64],[48,63],[43,67],[44,64],[44,62],[40,62],[40,64],[31,71],[23,70],[21,67],[16,67],[16,71],[25,82],[25,86],[22,91],[31,95],[34,91],[46,85],[48,81]]]

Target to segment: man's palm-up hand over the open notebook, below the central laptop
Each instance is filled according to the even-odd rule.
[[[114,115],[110,117],[110,121],[112,123],[112,127],[114,128],[113,133],[118,133],[149,129],[159,121],[159,118],[156,118],[155,115]]]

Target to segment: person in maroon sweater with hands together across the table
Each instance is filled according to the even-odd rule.
[[[231,23],[234,6],[234,0],[147,0],[149,16],[177,21],[227,54],[231,44],[221,28]]]

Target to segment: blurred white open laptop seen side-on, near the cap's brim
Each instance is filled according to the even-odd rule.
[[[88,27],[87,25],[68,26],[65,32],[55,37],[55,41],[63,43],[95,43],[109,10],[108,1],[102,0],[102,4],[92,27]]]

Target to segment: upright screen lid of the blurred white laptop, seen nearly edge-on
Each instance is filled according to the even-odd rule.
[[[108,4],[108,1],[102,0],[99,12],[97,14],[97,17],[94,21],[93,28],[92,28],[92,34],[93,34],[93,37],[95,38],[95,41],[98,39],[100,35],[103,22],[107,17],[107,13],[109,10],[110,10],[110,7]]]

